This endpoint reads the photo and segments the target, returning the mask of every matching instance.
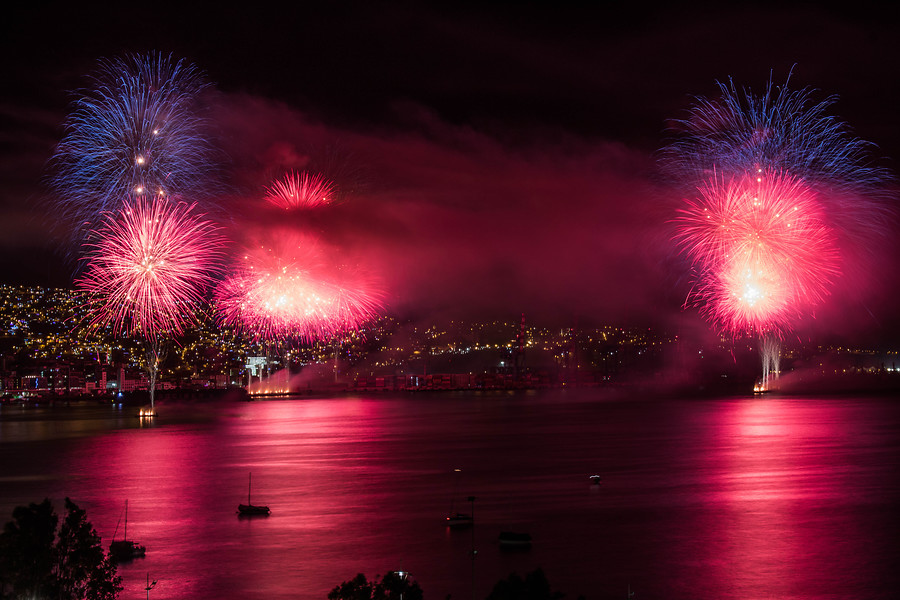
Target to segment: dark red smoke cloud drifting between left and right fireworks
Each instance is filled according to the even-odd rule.
[[[647,324],[680,310],[660,289],[672,252],[652,157],[575,137],[497,139],[421,107],[396,110],[405,127],[360,131],[223,97],[235,235],[286,218],[313,229],[382,278],[395,314]],[[263,207],[264,186],[288,169],[322,172],[341,201],[287,217]]]

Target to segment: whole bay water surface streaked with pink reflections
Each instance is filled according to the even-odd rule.
[[[108,407],[4,406],[4,521],[70,496],[108,543],[127,499],[147,557],[120,568],[123,598],[144,597],[147,572],[154,599],[324,599],[400,568],[426,598],[471,598],[472,532],[442,524],[469,495],[478,598],[538,566],[589,599],[629,584],[641,598],[890,598],[900,584],[887,398],[438,394],[160,413],[141,428]],[[269,517],[235,514],[250,472]],[[502,530],[532,549],[502,552]]]

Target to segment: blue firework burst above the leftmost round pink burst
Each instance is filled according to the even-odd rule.
[[[125,197],[213,198],[217,153],[200,107],[210,86],[193,65],[133,54],[101,60],[90,80],[51,160],[55,213],[74,241]]]

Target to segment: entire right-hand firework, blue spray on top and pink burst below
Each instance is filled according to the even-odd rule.
[[[829,114],[834,96],[816,101],[771,79],[761,95],[730,80],[718,87],[676,121],[662,151],[676,182],[700,190],[676,219],[696,274],[689,304],[720,330],[778,338],[839,278],[874,264],[893,215],[891,176],[870,160],[873,145]]]

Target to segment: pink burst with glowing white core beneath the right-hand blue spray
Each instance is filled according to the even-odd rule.
[[[696,270],[689,302],[720,331],[781,336],[829,295],[840,274],[816,193],[783,174],[718,177],[677,219]]]

